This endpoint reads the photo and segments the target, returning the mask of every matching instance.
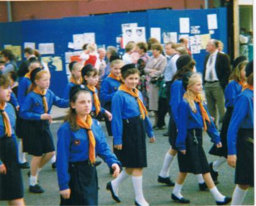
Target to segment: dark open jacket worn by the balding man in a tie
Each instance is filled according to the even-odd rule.
[[[206,64],[209,59],[210,55],[206,56],[206,59],[204,61],[204,73],[203,73],[203,80],[206,73]],[[228,78],[230,77],[230,58],[228,55],[218,52],[216,61],[215,61],[215,71],[217,74],[217,77],[219,78],[220,85],[222,86],[223,90],[225,90],[225,87],[228,84]]]

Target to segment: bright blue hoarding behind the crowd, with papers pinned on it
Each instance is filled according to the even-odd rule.
[[[74,52],[68,48],[68,42],[72,42],[73,34],[94,32],[96,44],[117,46],[117,37],[122,34],[123,23],[138,23],[139,27],[145,27],[146,39],[150,37],[150,28],[161,29],[161,44],[163,44],[163,33],[177,32],[180,35],[179,18],[189,18],[190,27],[199,26],[200,34],[187,33],[190,37],[201,34],[209,34],[207,15],[217,15],[217,28],[212,29],[211,38],[220,39],[225,45],[223,52],[227,53],[227,9],[196,9],[196,10],[147,10],[145,12],[112,13],[105,15],[94,15],[88,17],[70,17],[54,20],[26,20],[12,23],[0,23],[0,46],[20,45],[24,49],[24,42],[39,44],[54,43],[55,53],[42,55],[48,61],[51,72],[50,89],[62,97],[63,90],[68,83],[66,75],[65,52]],[[196,69],[203,72],[203,63],[206,52],[193,54],[196,61]],[[56,68],[56,63],[62,64]],[[18,62],[20,64],[20,62]]]

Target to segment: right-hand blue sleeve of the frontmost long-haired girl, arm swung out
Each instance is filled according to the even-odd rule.
[[[114,163],[117,163],[119,166],[121,166],[120,161],[118,161],[115,154],[113,154],[111,149],[109,148],[109,145],[107,145],[106,136],[103,132],[103,129],[101,128],[101,125],[98,121],[95,121],[95,123],[97,124],[97,131],[99,132],[99,139],[97,145],[99,157],[102,158],[109,167],[111,167]]]

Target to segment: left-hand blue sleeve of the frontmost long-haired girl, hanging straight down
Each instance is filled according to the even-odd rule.
[[[58,130],[56,169],[60,191],[69,188],[70,175],[69,167],[69,147],[71,144],[71,131],[64,125]]]

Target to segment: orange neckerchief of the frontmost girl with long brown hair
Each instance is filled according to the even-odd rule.
[[[85,128],[87,130],[88,139],[89,139],[89,160],[91,164],[95,164],[95,137],[93,132],[91,131],[91,125],[93,124],[93,120],[90,115],[87,115],[86,120],[81,120],[79,116],[77,116],[77,124],[80,128]]]

